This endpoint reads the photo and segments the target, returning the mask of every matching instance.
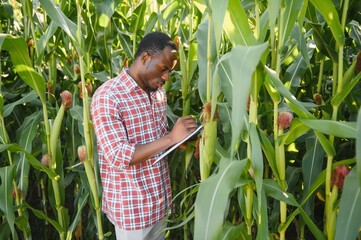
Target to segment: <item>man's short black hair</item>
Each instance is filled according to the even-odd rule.
[[[167,34],[151,32],[140,41],[138,50],[135,53],[135,58],[138,58],[143,52],[156,54],[163,51],[166,47],[170,47],[176,51],[178,50],[173,40]]]

